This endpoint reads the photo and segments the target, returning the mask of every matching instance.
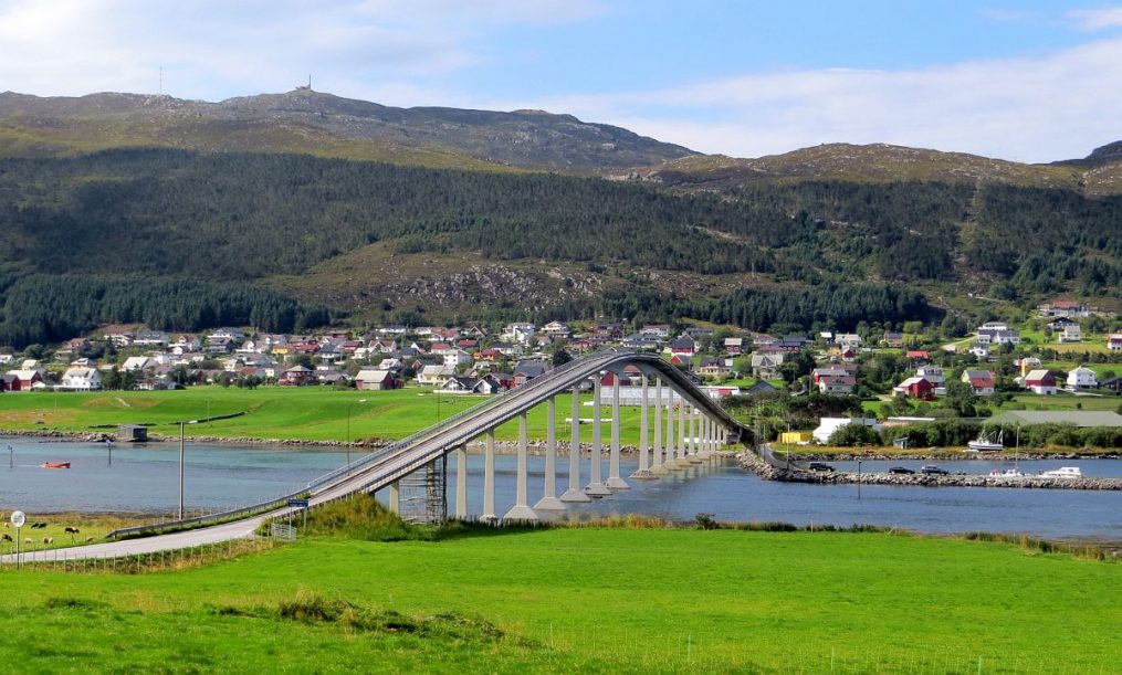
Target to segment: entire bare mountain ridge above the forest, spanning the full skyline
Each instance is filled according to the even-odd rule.
[[[469,170],[554,170],[680,189],[761,181],[997,183],[1122,194],[1122,141],[1082,159],[1021,164],[890,144],[822,144],[757,158],[705,155],[543,110],[396,108],[296,87],[218,102],[101,92],[0,93],[0,156],[120,147],[297,152]]]

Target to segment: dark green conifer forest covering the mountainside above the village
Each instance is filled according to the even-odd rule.
[[[126,321],[312,326],[333,317],[260,284],[374,242],[435,259],[471,252],[725,279],[706,297],[636,283],[544,307],[512,298],[477,308],[491,317],[849,330],[937,317],[908,286],[916,283],[1022,304],[1058,293],[1120,297],[1119,223],[1122,197],[994,185],[810,181],[687,194],[306,156],[135,149],[2,159],[0,341]]]

